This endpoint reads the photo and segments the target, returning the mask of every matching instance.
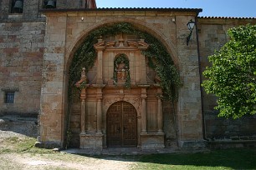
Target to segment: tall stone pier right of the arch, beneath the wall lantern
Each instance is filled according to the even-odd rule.
[[[183,86],[179,90],[177,102],[178,141],[182,148],[203,146],[202,139],[202,102],[200,92],[200,72],[198,67],[197,34],[190,31],[187,23],[195,21],[194,16],[177,16],[177,53],[179,71]]]

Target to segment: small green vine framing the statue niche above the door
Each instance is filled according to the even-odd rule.
[[[123,68],[125,69],[125,73],[126,73],[125,87],[131,87],[129,60],[124,53],[119,54],[117,57],[115,57],[115,60],[114,60],[114,72],[113,72],[114,84],[117,84],[117,81],[118,81],[117,72],[118,72],[118,65],[120,63],[125,64],[125,67]]]

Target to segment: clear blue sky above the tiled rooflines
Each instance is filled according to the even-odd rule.
[[[256,0],[96,0],[97,7],[202,8],[199,16],[256,18]]]

